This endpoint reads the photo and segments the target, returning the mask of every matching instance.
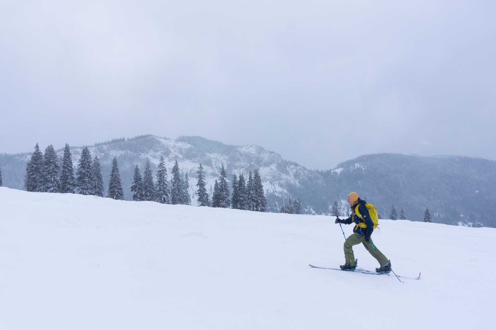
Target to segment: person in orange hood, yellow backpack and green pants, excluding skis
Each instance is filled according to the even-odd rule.
[[[353,234],[351,234],[344,242],[344,256],[346,263],[339,266],[343,271],[354,271],[357,268],[357,260],[353,254],[353,245],[363,243],[367,251],[372,254],[378,262],[380,267],[376,268],[377,273],[389,273],[391,271],[391,261],[388,260],[382,252],[380,252],[372,242],[372,231],[374,223],[369,214],[369,210],[365,206],[366,201],[360,199],[356,192],[348,195],[348,203],[351,206],[351,217],[348,219],[337,218],[334,223],[350,224],[355,222]]]

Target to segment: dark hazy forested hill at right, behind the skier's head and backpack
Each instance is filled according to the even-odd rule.
[[[391,206],[409,220],[423,220],[426,208],[434,222],[496,227],[496,162],[469,157],[364,155],[334,170],[319,171],[330,200],[356,191],[387,218]]]

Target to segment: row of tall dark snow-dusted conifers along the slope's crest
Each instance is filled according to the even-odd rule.
[[[68,144],[65,144],[62,159],[55,153],[53,145],[48,146],[45,149],[45,153],[41,152],[38,144],[36,144],[34,149],[31,160],[26,165],[24,188],[27,191],[78,193],[81,195],[104,197],[100,160],[96,155],[92,158],[87,147],[84,147],[81,152],[75,175],[72,155]],[[262,180],[258,170],[249,171],[248,182],[245,181],[243,173],[239,173],[239,176],[233,174],[233,180],[231,182],[233,190],[231,194],[227,173],[224,165],[222,165],[219,179],[215,181],[211,200],[206,189],[204,171],[201,164],[196,174],[196,186],[198,189],[195,193],[198,197],[198,206],[232,207],[238,210],[258,212],[267,211],[267,200],[263,192]],[[153,175],[148,159],[146,159],[142,174],[138,164],[134,167],[131,185],[133,201],[189,205],[191,203],[191,196],[189,195],[188,187],[188,174],[180,170],[177,161],[171,170],[170,181],[163,157],[160,158],[155,176]],[[106,197],[124,200],[119,165],[116,157],[112,161],[112,171]],[[295,201],[295,204],[298,205],[298,201]],[[298,207],[296,210],[298,210]]]

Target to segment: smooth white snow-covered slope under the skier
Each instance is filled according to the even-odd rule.
[[[494,228],[381,220],[400,283],[310,268],[344,262],[324,216],[0,187],[0,221],[0,329],[495,329]]]

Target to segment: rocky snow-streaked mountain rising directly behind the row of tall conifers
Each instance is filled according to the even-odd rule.
[[[82,147],[70,148],[75,171],[82,149]],[[92,157],[97,155],[100,158],[105,187],[108,186],[112,159],[117,157],[126,200],[132,199],[130,185],[134,166],[138,164],[140,168],[143,168],[145,160],[148,158],[155,171],[161,156],[164,157],[169,174],[176,161],[180,170],[188,174],[193,204],[196,203],[196,196],[194,195],[196,187],[194,185],[196,184],[196,171],[200,163],[205,171],[205,181],[210,196],[214,182],[219,178],[222,165],[228,173],[229,180],[233,173],[237,175],[243,173],[248,179],[248,172],[257,169],[268,195],[269,211],[278,211],[281,201],[292,195],[288,191],[289,187],[324,184],[323,178],[316,172],[294,162],[286,161],[279,154],[256,145],[227,146],[217,141],[195,136],[183,136],[173,140],[150,135],[138,139],[97,144],[88,147],[88,149]],[[63,151],[58,150],[58,154],[62,157]],[[29,161],[29,158],[30,155],[28,154],[17,156],[17,159],[24,164]],[[17,172],[17,175],[21,173],[22,169]],[[9,184],[7,179],[5,186],[22,189],[21,181],[17,180],[17,184]],[[293,195],[292,197],[305,199],[305,196]],[[307,205],[310,204],[307,203]]]

